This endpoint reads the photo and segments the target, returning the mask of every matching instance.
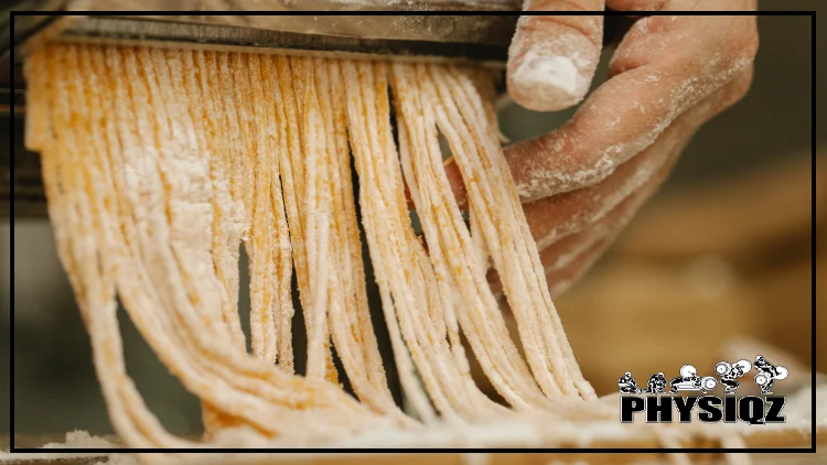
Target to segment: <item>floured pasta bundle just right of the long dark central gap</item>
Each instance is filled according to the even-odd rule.
[[[436,275],[405,207],[401,172],[385,116],[389,115],[387,67],[344,63],[343,71],[348,89],[351,144],[362,182],[370,183],[363,186],[361,195],[363,223],[391,336],[404,337],[443,418],[448,421],[483,418],[498,409],[473,383],[466,363],[464,369],[458,364],[457,353],[447,340],[444,316],[439,307],[444,301],[439,299]],[[399,122],[400,132],[402,125]],[[388,311],[389,305],[395,313]],[[427,305],[427,311],[422,311],[422,305]],[[405,368],[400,369],[402,386],[417,412],[425,421],[432,421],[433,413],[412,378],[410,360],[406,357],[398,364]]]

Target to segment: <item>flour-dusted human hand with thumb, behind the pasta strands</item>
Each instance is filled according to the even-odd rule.
[[[526,11],[754,11],[755,0],[526,0]],[[507,68],[512,98],[552,111],[586,96],[603,17],[524,15]],[[558,130],[505,149],[552,293],[579,279],[709,119],[741,99],[758,50],[754,15],[652,15],[617,45],[610,79]],[[449,180],[466,199],[454,163]],[[500,290],[494,271],[490,281]]]

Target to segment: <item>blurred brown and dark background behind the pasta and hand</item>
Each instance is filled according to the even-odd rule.
[[[817,0],[794,2],[809,10],[816,4]],[[827,235],[816,233],[825,216],[827,172],[821,162],[827,128],[823,120],[816,129],[815,151],[823,155],[814,173],[812,123],[813,105],[823,106],[827,96],[823,91],[815,100],[810,91],[815,31],[808,17],[761,17],[759,30],[761,46],[750,94],[700,130],[660,192],[617,242],[581,282],[556,298],[584,375],[601,394],[614,392],[624,371],[645,382],[652,372],[677,376],[684,364],[711,369],[721,357],[738,353],[727,348],[737,336],[756,340],[767,353],[772,347],[785,354],[804,370],[813,365],[812,296],[814,286],[827,280],[824,272],[818,281],[813,274],[814,266],[827,263]],[[815,42],[827,44],[825,35],[823,28]],[[609,56],[611,50],[603,54],[603,66]],[[824,55],[817,63],[824,71]],[[595,85],[602,80],[601,71]],[[560,126],[571,113],[511,106],[501,112],[501,125],[518,141]],[[2,130],[8,131],[6,126]],[[3,132],[2,139],[10,136]],[[17,158],[26,155],[21,144]],[[8,150],[8,144],[0,143],[0,150]],[[0,340],[14,332],[15,432],[110,433],[88,338],[49,223],[3,221]],[[812,248],[814,233],[821,246],[818,255]],[[246,264],[240,269],[246,280]],[[246,284],[243,281],[243,289]],[[243,295],[240,306],[248,304]],[[824,298],[815,305],[816,325],[824,329]],[[200,432],[196,399],[168,374],[121,315],[129,372],[148,407],[174,433]],[[824,337],[816,349],[815,368],[827,371]],[[754,353],[740,356],[752,358]],[[10,359],[9,345],[0,344],[2,379],[10,376]],[[10,388],[0,382],[0,436],[9,433]]]

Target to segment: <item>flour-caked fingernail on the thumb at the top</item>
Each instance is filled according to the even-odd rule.
[[[512,93],[529,110],[551,111],[579,102],[589,79],[571,56],[529,50],[512,74]]]

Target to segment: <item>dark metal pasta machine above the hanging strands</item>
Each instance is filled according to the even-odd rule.
[[[17,123],[15,133],[8,133],[14,137],[14,151],[0,159],[0,217],[10,217],[12,198],[17,218],[45,217],[46,212],[39,158],[22,142],[22,63],[26,43],[34,37],[357,60],[473,62],[503,68],[520,7],[520,0],[11,2],[0,20],[0,126],[9,131],[9,119]],[[299,11],[304,14],[290,14]]]

